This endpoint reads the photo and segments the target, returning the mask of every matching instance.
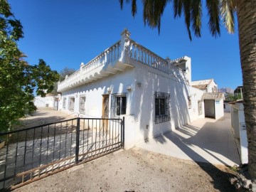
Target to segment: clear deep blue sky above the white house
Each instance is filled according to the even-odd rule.
[[[53,70],[78,69],[112,46],[128,28],[131,38],[163,58],[191,57],[192,80],[214,78],[218,87],[242,85],[238,30],[230,35],[224,27],[214,38],[208,31],[207,13],[203,11],[202,37],[188,38],[183,18],[174,19],[167,6],[161,33],[144,26],[142,6],[132,17],[130,5],[121,11],[118,0],[10,0],[12,11],[23,24],[25,37],[18,45],[28,55],[29,63],[43,58]]]

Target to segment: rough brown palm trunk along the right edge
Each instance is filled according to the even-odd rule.
[[[240,0],[238,32],[243,104],[248,139],[248,172],[256,181],[256,1]]]

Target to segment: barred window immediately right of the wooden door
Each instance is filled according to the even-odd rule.
[[[111,95],[111,109],[112,117],[119,116],[120,114],[126,114],[127,97],[126,92],[114,93]]]

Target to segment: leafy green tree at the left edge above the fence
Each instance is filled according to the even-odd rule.
[[[36,110],[34,92],[45,96],[53,90],[58,73],[46,62],[29,65],[17,41],[23,38],[21,22],[11,13],[6,0],[0,0],[0,132],[10,130],[18,118]]]

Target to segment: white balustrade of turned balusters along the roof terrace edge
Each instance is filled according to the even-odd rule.
[[[70,75],[68,78],[63,80],[58,84],[58,90],[63,90],[72,85],[78,84],[82,79],[89,78],[92,71],[97,68],[103,67],[112,63],[114,60],[119,60],[121,57],[121,53],[124,54],[124,57],[132,58],[133,60],[137,60],[140,63],[144,63],[146,65],[151,66],[152,68],[156,68],[157,70],[161,70],[164,73],[168,73],[176,78],[185,78],[184,72],[171,64],[169,60],[165,60],[161,58],[159,55],[156,55],[151,50],[145,48],[144,46],[139,45],[132,39],[129,39],[128,47],[121,47],[122,41],[118,41],[114,43],[113,46],[107,48],[105,51],[97,55],[95,58],[90,60],[86,65],[82,65],[80,70],[77,70],[73,75]],[[124,50],[128,50],[124,51]]]

